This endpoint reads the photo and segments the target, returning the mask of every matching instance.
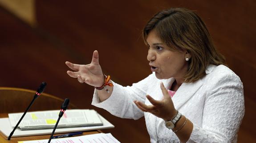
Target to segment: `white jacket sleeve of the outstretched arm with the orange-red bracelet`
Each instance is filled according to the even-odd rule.
[[[148,83],[154,80],[156,80],[156,77],[152,73],[132,86],[124,87],[112,81],[114,89],[111,96],[103,102],[99,102],[97,92],[94,90],[92,105],[103,108],[114,116],[137,120],[144,116],[144,112],[133,101],[138,100],[144,103],[147,90],[150,88]]]

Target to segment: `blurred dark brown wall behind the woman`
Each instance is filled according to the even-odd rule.
[[[246,113],[238,141],[252,143],[255,0],[0,0],[0,86],[36,90],[46,81],[46,93],[68,97],[77,108],[95,109],[113,123],[114,129],[103,131],[122,143],[149,143],[144,118],[120,119],[93,107],[93,87],[69,77],[65,61],[89,64],[93,50],[98,50],[104,73],[119,84],[145,78],[151,71],[143,26],[170,7],[185,7],[201,16],[229,68],[243,81]]]

